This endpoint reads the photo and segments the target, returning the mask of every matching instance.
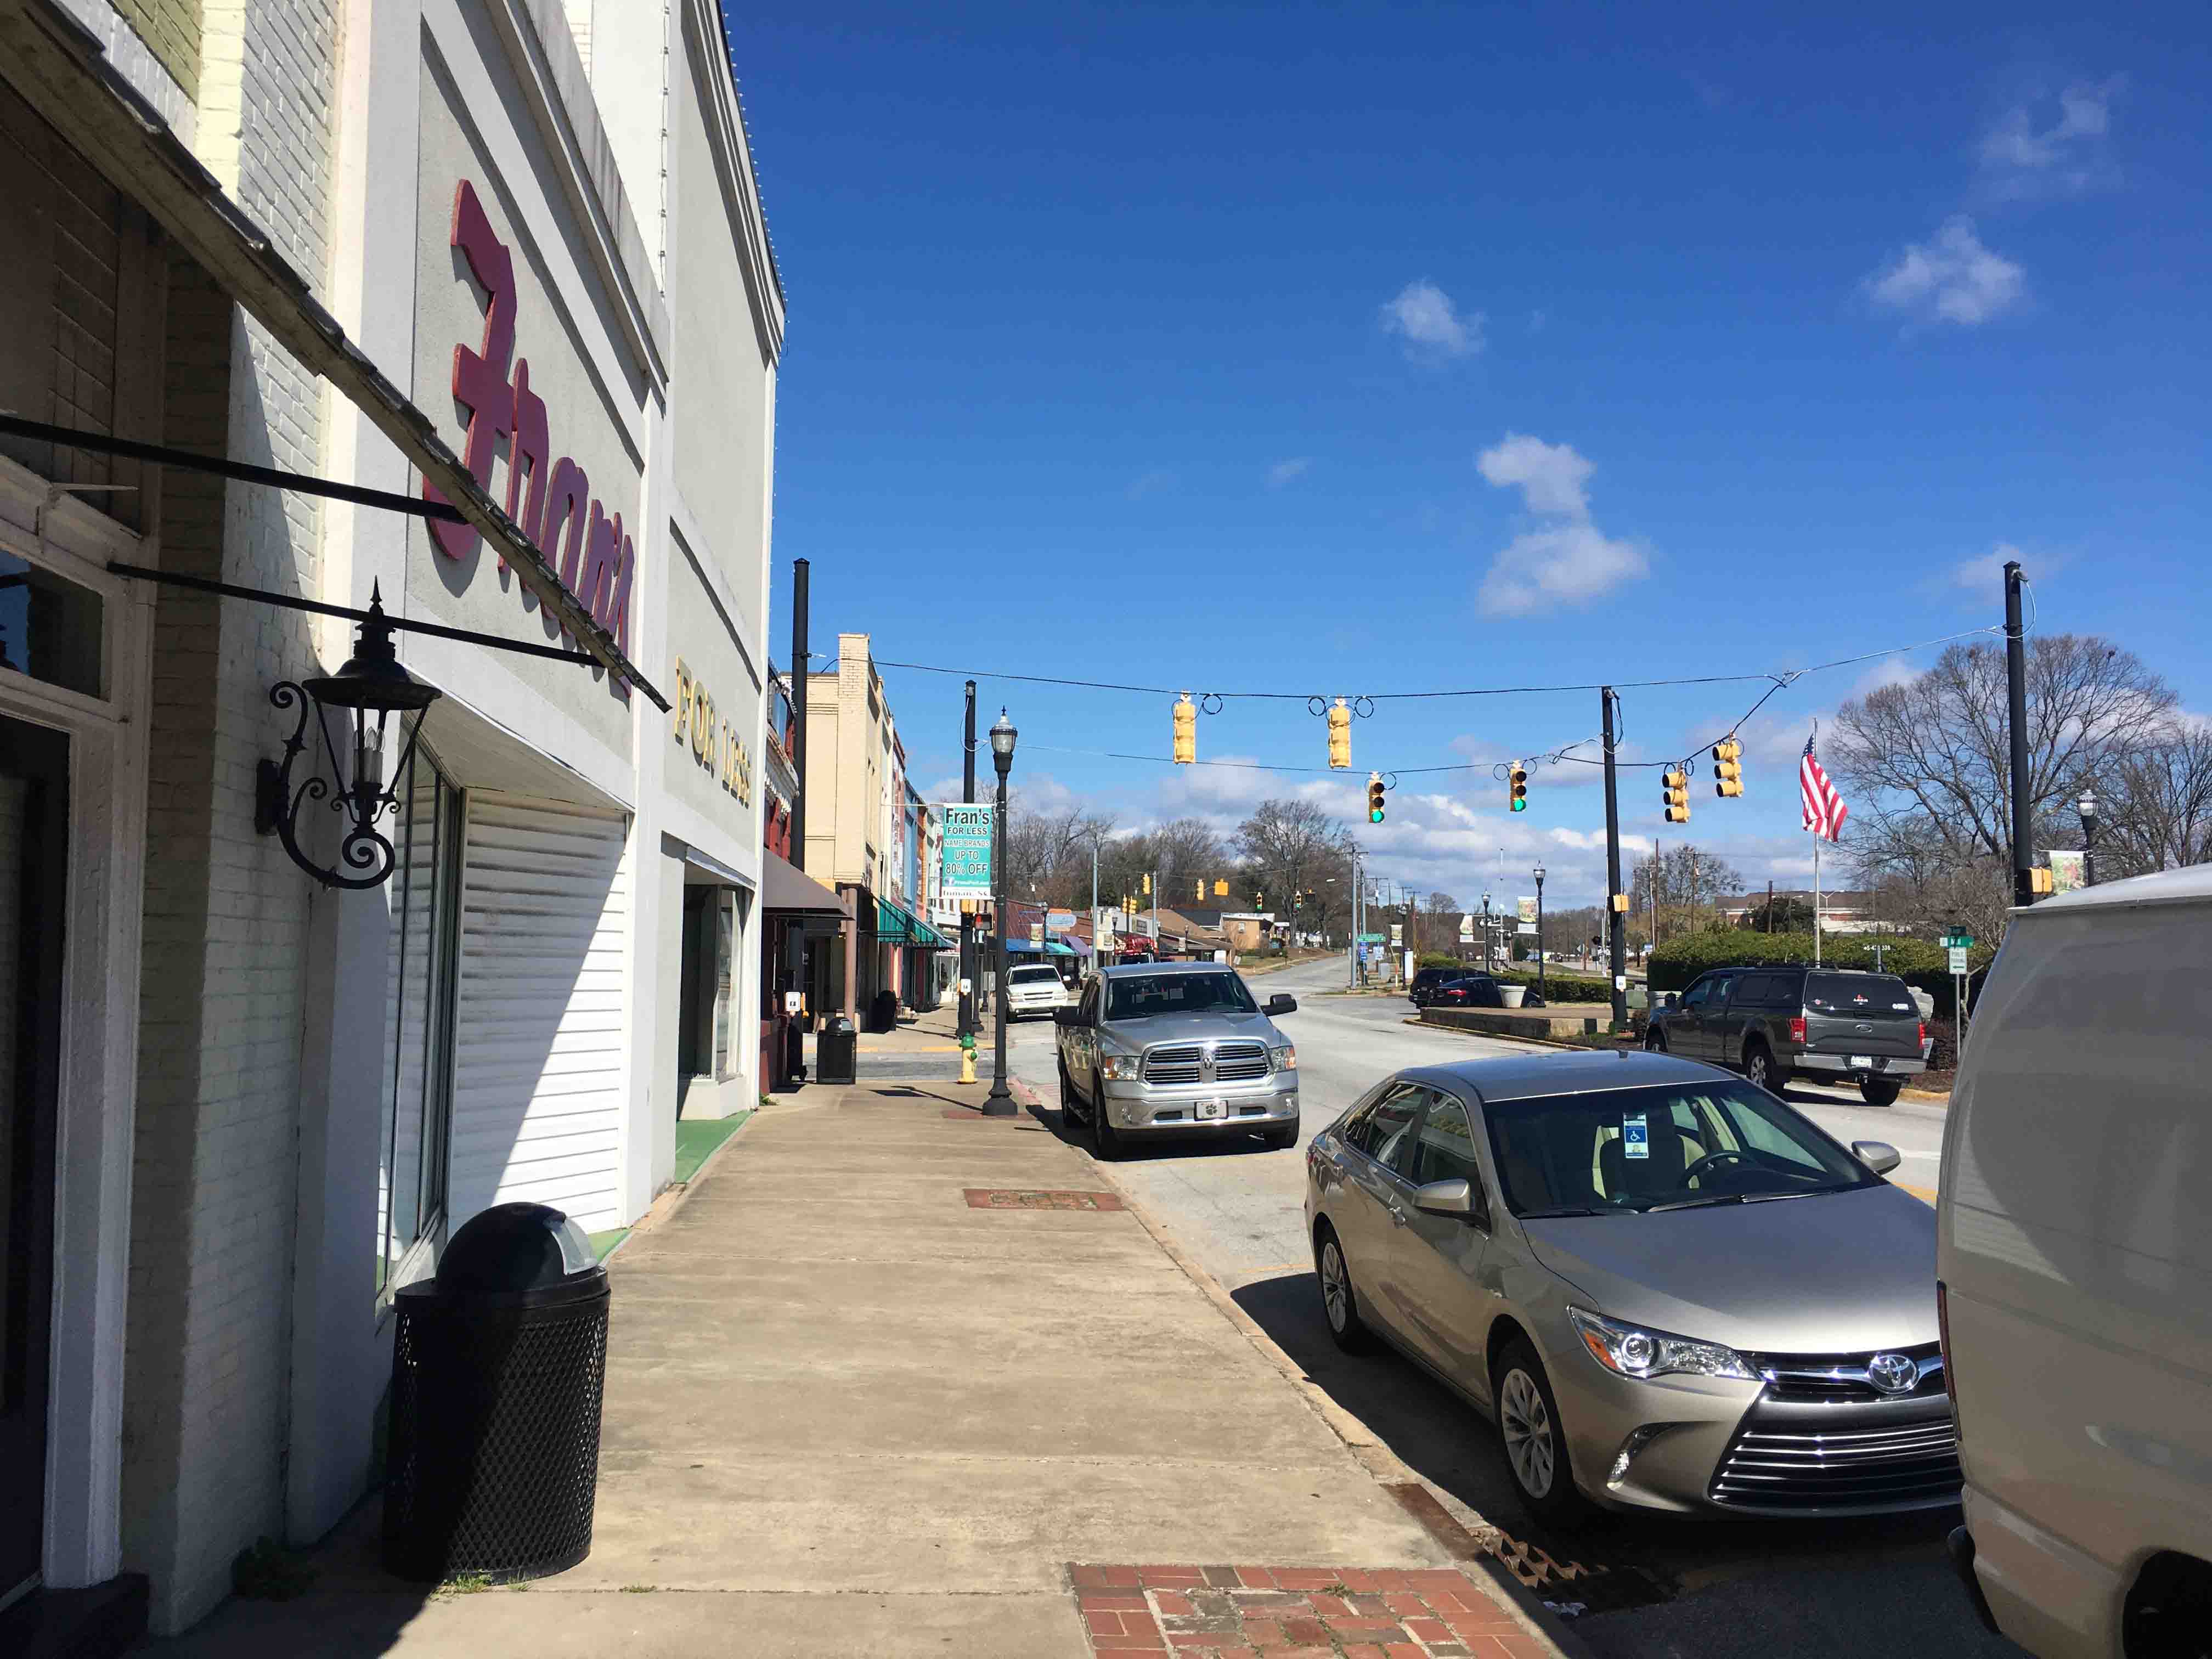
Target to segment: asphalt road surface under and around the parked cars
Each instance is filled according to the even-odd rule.
[[[1298,998],[1298,1013],[1281,1024],[1298,1044],[1301,1150],[1267,1152],[1256,1139],[1170,1146],[1117,1164],[1115,1181],[1422,1478],[1555,1559],[1608,1568],[1586,1588],[1544,1590],[1553,1601],[1624,1604],[1575,1619],[1593,1650],[1767,1659],[1814,1646],[1893,1652],[1905,1644],[1953,1659],[2020,1652],[1982,1630],[1951,1577],[1942,1537],[1958,1524],[1955,1511],[1803,1524],[1606,1517],[1573,1540],[1533,1528],[1480,1413],[1396,1356],[1352,1358],[1329,1343],[1301,1212],[1305,1139],[1369,1084],[1400,1066],[1533,1044],[1409,1026],[1405,998],[1327,995],[1343,987],[1334,962],[1270,973],[1252,987],[1263,998]],[[1011,1064],[1035,1084],[1046,1121],[1057,1124],[1053,1029],[1018,1026]],[[1869,1108],[1825,1088],[1792,1088],[1790,1099],[1838,1139],[1891,1141],[1907,1155],[1896,1179],[1933,1194],[1942,1108]]]

